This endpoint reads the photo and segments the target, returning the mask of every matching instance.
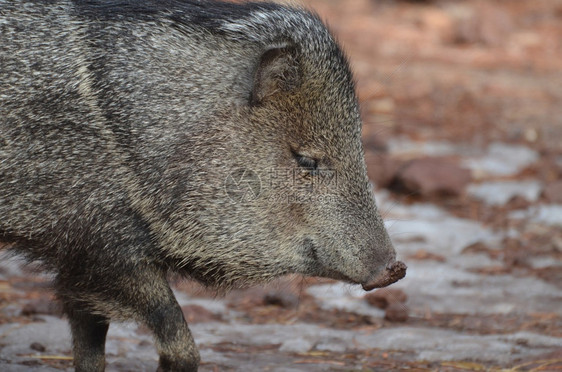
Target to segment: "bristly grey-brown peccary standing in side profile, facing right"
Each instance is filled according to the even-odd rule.
[[[168,284],[405,275],[366,176],[346,58],[269,3],[0,0],[0,240],[40,261],[77,371],[110,320],[199,353]]]

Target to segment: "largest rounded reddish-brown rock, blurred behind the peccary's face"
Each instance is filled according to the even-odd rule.
[[[471,180],[470,171],[442,158],[416,159],[398,172],[392,188],[422,196],[456,196]]]

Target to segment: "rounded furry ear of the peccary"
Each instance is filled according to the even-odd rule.
[[[290,92],[302,80],[301,67],[293,45],[266,49],[258,61],[254,73],[254,84],[250,105],[257,106],[280,92]]]

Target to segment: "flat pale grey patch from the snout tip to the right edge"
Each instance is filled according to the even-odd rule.
[[[562,314],[562,291],[543,280],[508,274],[479,275],[472,270],[459,269],[450,261],[414,261],[414,270],[406,280],[395,284],[408,295],[408,306],[416,315],[423,316],[427,311],[455,314],[510,314],[514,311]],[[462,290],[459,290],[458,283],[463,283]]]

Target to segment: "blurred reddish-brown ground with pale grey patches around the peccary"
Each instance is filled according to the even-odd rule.
[[[310,0],[356,74],[405,279],[175,290],[203,371],[562,370],[562,1]],[[112,326],[108,370],[155,370]],[[0,370],[71,366],[48,277],[0,265]]]

